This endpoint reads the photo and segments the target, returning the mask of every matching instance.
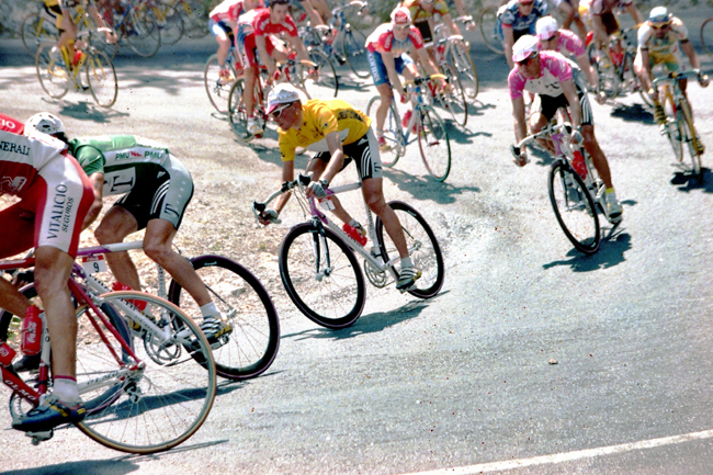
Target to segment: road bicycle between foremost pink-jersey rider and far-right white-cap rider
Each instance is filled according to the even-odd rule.
[[[630,36],[636,35],[637,27],[619,31],[609,37],[604,55],[598,57],[591,35],[587,36],[587,54],[599,78],[598,90],[609,100],[638,92],[646,105],[654,105],[638,76],[634,70],[636,44]]]

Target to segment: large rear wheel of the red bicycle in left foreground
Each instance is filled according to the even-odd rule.
[[[185,313],[157,296],[122,291],[98,299],[120,313],[128,299],[145,302],[145,315],[151,315],[165,329],[180,328],[183,335],[174,331],[162,344],[145,337],[144,344],[135,344],[143,364],[124,365],[128,375],[122,380],[114,375],[121,381],[121,395],[77,427],[102,445],[122,452],[148,454],[180,444],[199,430],[215,398],[215,362],[207,340]],[[106,336],[116,348],[116,339]],[[78,346],[77,364],[80,387],[87,378],[95,381],[102,374],[111,378],[117,370],[106,346],[93,341]]]

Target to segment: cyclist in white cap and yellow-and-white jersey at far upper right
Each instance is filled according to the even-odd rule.
[[[681,49],[688,56],[693,69],[700,69],[699,60],[691,42],[688,38],[688,30],[681,20],[671,15],[666,7],[656,7],[648,15],[648,20],[638,29],[638,48],[634,59],[634,69],[638,75],[642,86],[649,91],[654,100],[654,118],[659,125],[666,124],[666,113],[658,99],[658,90],[652,89],[654,79],[653,68],[656,65],[669,71],[684,71],[686,65],[681,56]],[[699,78],[701,86],[709,84],[708,76]],[[681,92],[686,95],[688,79],[679,80]],[[690,101],[689,101],[690,102]],[[695,140],[699,152],[703,154],[703,144]]]

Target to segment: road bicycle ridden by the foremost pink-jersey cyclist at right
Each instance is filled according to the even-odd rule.
[[[598,212],[612,225],[604,238],[609,239],[621,223],[612,222],[607,212],[606,185],[591,157],[581,144],[571,143],[571,125],[552,121],[541,132],[529,135],[511,146],[516,159],[520,150],[539,138],[548,138],[554,146],[555,162],[550,168],[547,191],[557,223],[565,236],[579,251],[591,255],[599,250],[602,231]],[[575,166],[573,166],[573,162]],[[579,174],[575,168],[582,171]]]

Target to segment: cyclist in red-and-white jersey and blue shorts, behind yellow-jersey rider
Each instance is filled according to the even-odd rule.
[[[392,22],[377,26],[366,38],[369,66],[374,86],[381,95],[381,103],[376,109],[376,139],[382,150],[388,149],[384,139],[384,122],[392,106],[392,88],[399,91],[401,102],[406,102],[408,98],[398,75],[411,80],[418,76],[414,60],[407,54],[409,50],[416,52],[429,75],[438,73],[423,48],[421,33],[416,26],[411,26],[410,12],[405,7],[398,7],[392,12]]]

